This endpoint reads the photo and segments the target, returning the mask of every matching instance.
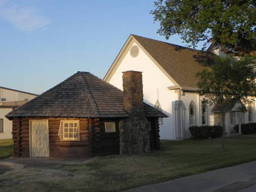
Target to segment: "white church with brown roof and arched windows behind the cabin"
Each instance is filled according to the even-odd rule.
[[[144,86],[144,101],[169,115],[159,120],[160,138],[180,140],[189,138],[192,125],[218,125],[218,113],[212,106],[202,105],[197,94],[196,74],[204,69],[203,64],[211,62],[214,47],[207,52],[130,35],[117,55],[104,80],[122,89],[122,72],[141,71]],[[236,111],[234,105],[225,114],[226,132],[233,127],[256,121],[256,105],[248,106],[246,113]],[[242,114],[242,115],[241,115]],[[239,117],[240,116],[240,117]]]

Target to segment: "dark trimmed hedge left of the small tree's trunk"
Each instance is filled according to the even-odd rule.
[[[189,127],[191,138],[194,139],[205,139],[205,138],[216,138],[222,135],[223,128],[219,125],[209,126],[192,126]]]

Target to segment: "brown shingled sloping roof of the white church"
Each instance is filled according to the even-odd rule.
[[[134,37],[181,87],[197,87],[197,72],[212,64],[214,54],[169,44],[146,37]]]

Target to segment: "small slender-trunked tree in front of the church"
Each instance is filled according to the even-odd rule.
[[[216,57],[214,64],[197,74],[199,77],[199,94],[204,102],[215,105],[222,115],[222,125],[225,125],[226,107],[232,102],[241,101],[244,104],[255,102],[255,63],[256,57],[245,56],[240,60],[234,57]],[[246,109],[240,108],[245,111]],[[225,127],[222,134],[222,150],[225,147]]]

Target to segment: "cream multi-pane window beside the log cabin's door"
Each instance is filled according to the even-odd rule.
[[[64,124],[68,123],[68,127],[64,127]],[[72,127],[69,127],[70,124],[73,124]],[[77,123],[76,131],[74,132],[74,123]],[[73,132],[69,133],[70,129],[73,129]],[[65,131],[67,129],[67,133]],[[65,135],[67,134],[67,137]],[[72,134],[73,137],[69,137],[69,135]],[[74,137],[74,135],[77,135],[77,137]],[[61,125],[59,126],[59,138],[62,141],[80,141],[80,125],[79,120],[61,120]]]

